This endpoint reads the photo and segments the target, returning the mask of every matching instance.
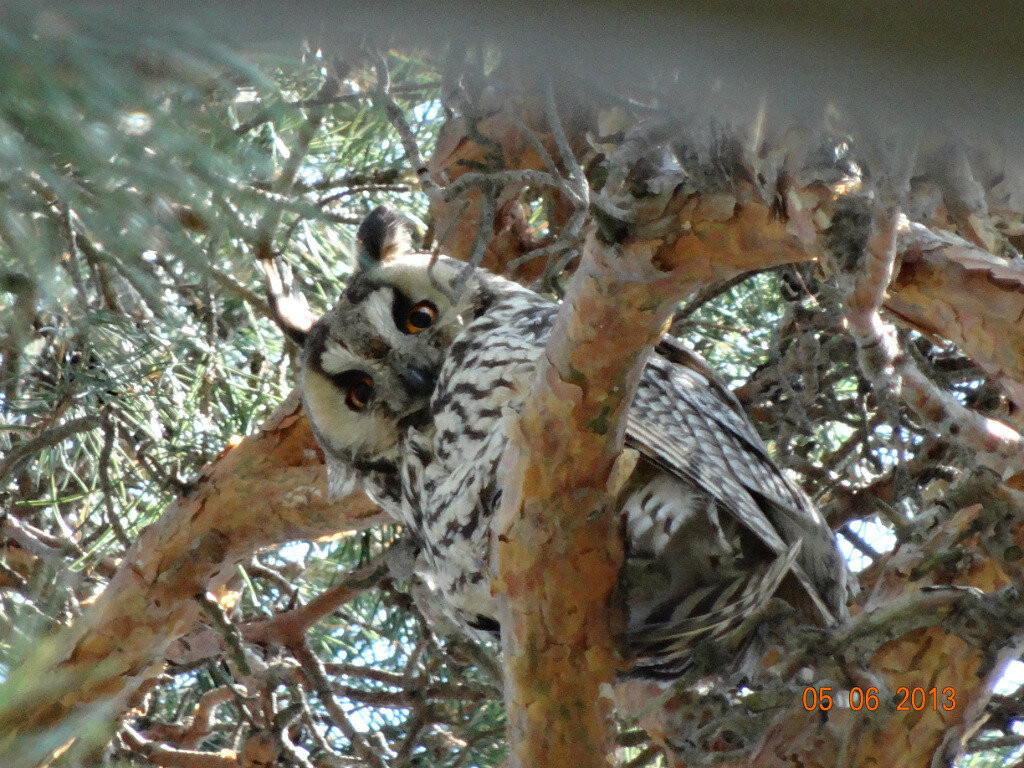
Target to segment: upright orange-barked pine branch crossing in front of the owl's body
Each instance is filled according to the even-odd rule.
[[[622,562],[611,508],[625,416],[685,287],[659,241],[594,234],[511,427],[495,551],[504,597],[510,750],[521,766],[605,766],[601,686],[616,667],[607,605]],[[624,459],[625,461],[625,459]]]

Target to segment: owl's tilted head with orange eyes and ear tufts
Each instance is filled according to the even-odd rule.
[[[413,253],[401,214],[377,208],[359,225],[358,258],[338,303],[311,326],[275,296],[271,307],[302,347],[302,401],[327,456],[329,487],[365,487],[386,509],[400,504],[402,440],[430,430],[430,395],[456,335],[482,311],[485,278],[465,264]]]

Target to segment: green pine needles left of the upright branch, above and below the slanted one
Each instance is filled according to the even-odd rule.
[[[358,62],[311,50],[254,62],[196,34],[147,38],[112,16],[56,15],[0,30],[0,58],[6,677],[40,633],[74,621],[137,531],[203,465],[254,431],[294,386],[292,351],[267,319],[254,268],[260,237],[271,229],[273,250],[323,311],[349,271],[352,225],[382,202],[421,216],[425,203],[408,184],[397,136],[361,92],[372,74]],[[389,63],[427,144],[439,120],[436,75],[418,58]],[[243,569],[247,589],[231,618],[306,602],[393,539],[383,529],[262,554]],[[431,735],[433,720],[445,718],[499,732],[501,713],[493,679],[425,644],[402,586],[349,601],[314,628],[309,645],[349,666],[332,677],[350,689],[338,698],[358,730],[395,745],[408,739],[407,758],[429,748],[437,764],[456,755],[490,762],[500,738]],[[458,680],[473,687],[474,714],[463,717],[454,697],[431,722],[410,724],[409,697],[377,671],[399,681],[429,675],[434,685]],[[220,653],[172,668],[133,727],[144,734],[187,720],[234,672]],[[315,695],[292,682],[273,696],[266,712],[221,705],[189,746],[237,748],[298,707],[301,715],[288,714],[296,756],[350,750]],[[108,752],[131,754],[124,740]]]

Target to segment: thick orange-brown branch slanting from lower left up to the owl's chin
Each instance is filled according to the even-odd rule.
[[[225,450],[139,536],[89,610],[5,683],[3,748],[17,749],[13,734],[33,739],[99,703],[123,710],[160,673],[168,645],[193,627],[194,597],[215,592],[256,550],[377,521],[379,511],[361,495],[326,501],[317,457],[295,395],[257,434]],[[25,685],[22,675],[47,668],[45,684]]]

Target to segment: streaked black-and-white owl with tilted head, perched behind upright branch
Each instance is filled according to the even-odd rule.
[[[302,345],[302,399],[331,490],[366,489],[416,539],[419,574],[450,617],[497,631],[498,467],[557,305],[412,253],[401,216],[385,208],[358,242],[337,305],[308,330],[280,321]],[[614,501],[625,675],[678,676],[702,640],[741,643],[776,598],[816,626],[847,616],[847,569],[827,524],[729,390],[673,338],[644,370],[626,450],[634,469]]]

